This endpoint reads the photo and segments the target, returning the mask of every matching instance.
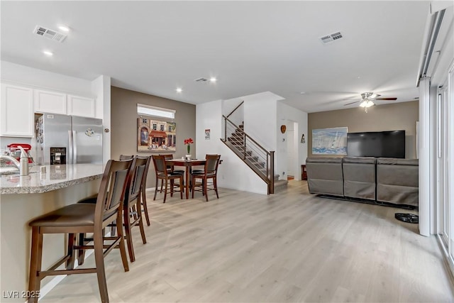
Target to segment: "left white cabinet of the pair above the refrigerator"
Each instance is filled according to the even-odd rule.
[[[34,89],[35,112],[66,114],[66,94]]]

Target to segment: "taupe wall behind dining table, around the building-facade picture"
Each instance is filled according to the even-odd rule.
[[[153,153],[137,152],[137,104],[146,104],[174,109],[177,123],[177,151],[174,158],[186,154],[184,138],[194,139],[192,154],[196,151],[196,106],[172,99],[134,92],[128,89],[111,87],[111,158],[118,159],[123,155],[152,155]],[[147,187],[155,187],[155,170],[153,163],[148,172]]]

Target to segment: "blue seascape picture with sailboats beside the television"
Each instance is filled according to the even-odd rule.
[[[312,130],[313,155],[347,155],[347,127]]]

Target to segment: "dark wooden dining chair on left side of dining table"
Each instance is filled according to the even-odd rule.
[[[165,162],[165,155],[153,155],[153,164],[155,165],[156,172],[156,185],[155,185],[155,197],[158,191],[159,180],[164,182],[164,201],[167,198],[167,193],[170,192],[170,197],[173,197],[173,192],[179,192],[180,198],[183,199],[183,174],[180,172],[169,172],[167,170],[167,164]],[[175,180],[179,180],[178,184],[175,184]],[[179,187],[179,190],[175,190],[175,187]]]

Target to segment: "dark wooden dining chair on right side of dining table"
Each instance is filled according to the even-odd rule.
[[[192,199],[194,199],[194,192],[202,192],[205,196],[206,202],[208,202],[209,190],[214,190],[214,192],[216,192],[216,197],[219,199],[217,175],[220,158],[221,155],[206,155],[204,171],[192,172]],[[197,182],[197,180],[201,181]],[[209,180],[211,180],[211,182],[209,182]]]

